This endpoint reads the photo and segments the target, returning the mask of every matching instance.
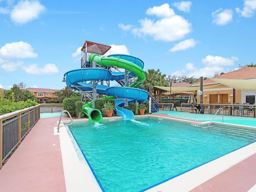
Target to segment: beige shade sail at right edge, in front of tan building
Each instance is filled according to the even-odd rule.
[[[209,79],[238,90],[256,90],[256,79]]]

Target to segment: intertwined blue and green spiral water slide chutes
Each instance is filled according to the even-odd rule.
[[[131,87],[96,85],[96,92],[104,94],[108,97],[102,98],[103,100],[117,98],[116,101],[116,114],[122,116],[123,119],[134,119],[132,111],[122,108],[124,106],[124,98],[128,98],[128,102],[142,102],[144,103],[148,98],[148,92],[138,89],[137,87],[142,84],[146,78],[143,71],[144,63],[142,60],[128,56],[128,55],[110,55],[109,57],[99,58],[98,55],[93,54],[96,58],[96,63],[102,66],[118,66],[120,68],[130,69],[129,77],[138,76],[138,82],[131,85]],[[92,84],[85,83],[86,81],[100,80],[112,81],[123,80],[124,73],[111,72],[106,68],[80,68],[66,72],[65,80],[68,88],[73,88],[82,91],[92,91]],[[102,115],[97,109],[92,109],[92,102],[86,103],[83,106],[83,112],[89,117],[90,122],[101,122]],[[99,117],[100,116],[100,117]]]

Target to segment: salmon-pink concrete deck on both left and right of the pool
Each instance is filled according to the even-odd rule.
[[[167,117],[166,114],[158,116]],[[66,192],[60,140],[54,135],[58,120],[59,117],[41,118],[36,123],[0,170],[0,191]],[[255,162],[256,154],[190,192],[248,192],[256,184]]]

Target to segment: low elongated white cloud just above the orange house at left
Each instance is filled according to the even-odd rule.
[[[52,75],[59,72],[58,68],[54,64],[46,64],[43,68],[39,68],[37,64],[32,64],[30,66],[22,66],[22,69],[28,74],[36,75]]]

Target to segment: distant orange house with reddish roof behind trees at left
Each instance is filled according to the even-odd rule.
[[[30,91],[40,101],[45,103],[47,100],[56,100],[58,97],[54,92],[60,91],[56,89],[43,89],[43,88],[26,88],[25,90]]]

